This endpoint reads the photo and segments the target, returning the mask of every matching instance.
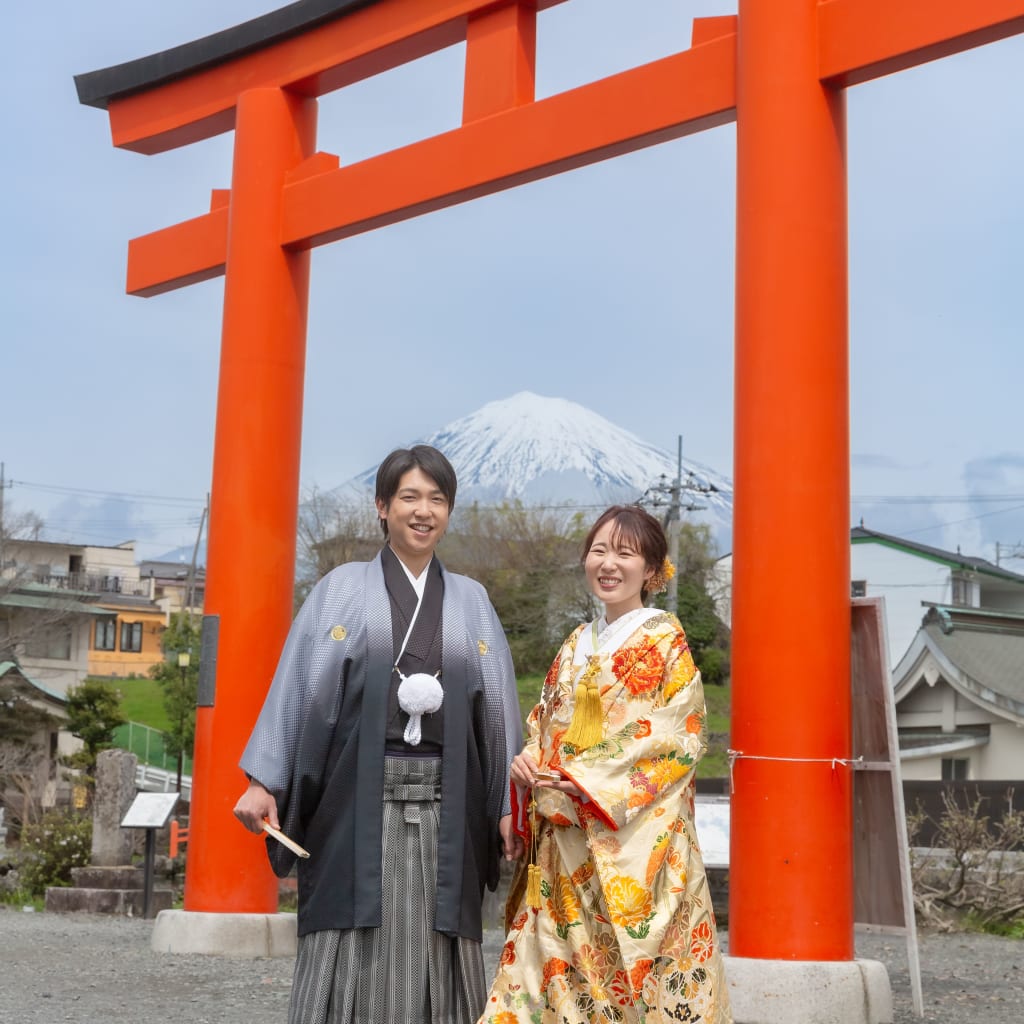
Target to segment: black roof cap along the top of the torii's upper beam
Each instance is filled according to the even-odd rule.
[[[297,0],[190,43],[75,76],[80,103],[105,110],[113,99],[153,89],[177,78],[281,42],[380,0]]]

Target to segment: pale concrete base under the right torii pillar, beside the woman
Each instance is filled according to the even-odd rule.
[[[891,1024],[889,974],[878,961],[725,957],[736,1024]]]

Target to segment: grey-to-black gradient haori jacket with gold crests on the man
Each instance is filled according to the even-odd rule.
[[[495,889],[509,763],[522,746],[501,623],[474,580],[441,568],[444,699],[434,929],[479,941]],[[273,794],[299,860],[299,934],[381,925],[385,730],[394,658],[381,557],[326,575],[292,624],[242,769]],[[284,877],[294,854],[272,839]]]

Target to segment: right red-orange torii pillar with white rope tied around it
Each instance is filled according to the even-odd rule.
[[[739,4],[730,738],[743,848],[729,951],[777,956],[781,933],[793,958],[840,961],[853,956],[852,769],[833,761],[851,745],[845,108],[820,81],[817,8]]]

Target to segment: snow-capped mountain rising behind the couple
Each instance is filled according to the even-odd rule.
[[[644,498],[669,502],[676,456],[615,426],[565,398],[521,391],[488,402],[441,427],[426,443],[439,449],[459,475],[457,506],[518,499],[525,505],[604,507]],[[373,493],[377,467],[342,484],[337,493]],[[732,484],[714,470],[683,460],[683,505],[706,507],[685,513],[714,524],[732,522]],[[646,497],[645,497],[646,496]]]

